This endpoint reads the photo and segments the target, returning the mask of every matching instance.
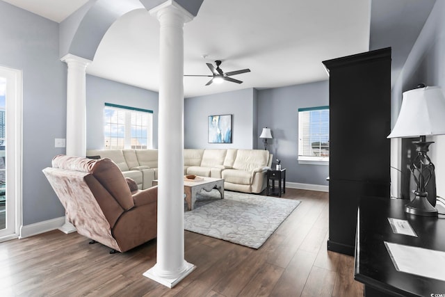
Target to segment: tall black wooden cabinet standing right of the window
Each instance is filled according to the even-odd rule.
[[[389,197],[391,48],[323,64],[330,74],[327,248],[354,255],[359,197]]]

